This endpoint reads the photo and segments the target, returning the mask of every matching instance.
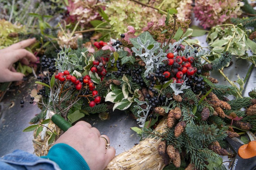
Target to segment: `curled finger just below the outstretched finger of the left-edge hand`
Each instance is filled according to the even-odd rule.
[[[8,55],[8,54],[6,54],[6,55]],[[26,57],[31,62],[37,62],[37,57],[35,57],[34,54],[32,54],[31,52],[29,52],[25,49],[15,50],[15,52],[12,52],[12,53],[9,52],[9,56],[11,56],[10,60],[13,63],[19,61],[20,59],[22,59],[24,57]]]

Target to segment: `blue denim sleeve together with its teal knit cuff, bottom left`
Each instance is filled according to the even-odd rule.
[[[64,143],[54,145],[47,156],[15,150],[0,158],[1,170],[90,170],[84,158]]]

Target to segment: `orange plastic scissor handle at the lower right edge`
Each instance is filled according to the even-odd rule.
[[[248,144],[241,146],[238,149],[238,155],[241,158],[248,159],[256,156],[256,141],[250,141]]]

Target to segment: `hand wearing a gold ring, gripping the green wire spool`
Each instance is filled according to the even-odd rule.
[[[90,170],[101,170],[114,158],[116,152],[113,147],[106,149],[102,137],[110,143],[108,136],[100,135],[98,129],[92,128],[89,123],[79,121],[62,134],[54,145],[66,143],[83,156]]]

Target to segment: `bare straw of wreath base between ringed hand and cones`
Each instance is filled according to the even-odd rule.
[[[164,133],[166,126],[167,119],[161,121],[155,130]],[[138,145],[115,156],[105,170],[162,170],[165,165],[157,151],[160,141],[160,138],[145,138]]]

